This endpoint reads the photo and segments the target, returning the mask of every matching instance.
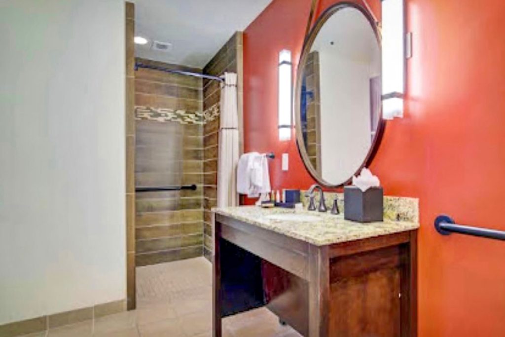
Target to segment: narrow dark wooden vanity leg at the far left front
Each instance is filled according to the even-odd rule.
[[[221,337],[221,250],[219,238],[221,237],[221,224],[214,224],[214,253],[212,261],[213,271],[213,292],[212,292],[212,335],[213,337]]]

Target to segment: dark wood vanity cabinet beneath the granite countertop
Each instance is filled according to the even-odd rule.
[[[417,335],[417,230],[315,246],[217,215],[216,234],[216,337],[221,268],[233,268],[220,262],[220,240],[263,259],[266,306],[304,336]]]

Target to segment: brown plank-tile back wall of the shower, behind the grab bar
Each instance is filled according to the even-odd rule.
[[[199,69],[137,59],[166,68]],[[197,189],[136,194],[136,265],[181,260],[203,254],[204,137],[203,125],[185,119],[145,117],[146,110],[202,111],[199,78],[157,70],[135,72],[135,186],[179,186]],[[155,117],[159,117],[158,115]]]

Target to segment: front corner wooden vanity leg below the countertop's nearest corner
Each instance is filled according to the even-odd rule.
[[[309,336],[328,336],[330,260],[328,246],[309,246]]]

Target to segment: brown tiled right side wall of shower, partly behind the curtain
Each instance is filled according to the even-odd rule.
[[[224,72],[237,73],[238,122],[242,125],[242,32],[236,32],[226,42],[212,60],[204,67],[204,73],[220,76]],[[204,111],[219,105],[220,83],[203,82]],[[211,208],[217,203],[217,158],[218,158],[219,117],[204,125],[204,255],[211,260],[212,217]],[[242,134],[241,130],[240,134]],[[240,149],[243,148],[240,141]],[[242,151],[241,151],[242,152]]]

